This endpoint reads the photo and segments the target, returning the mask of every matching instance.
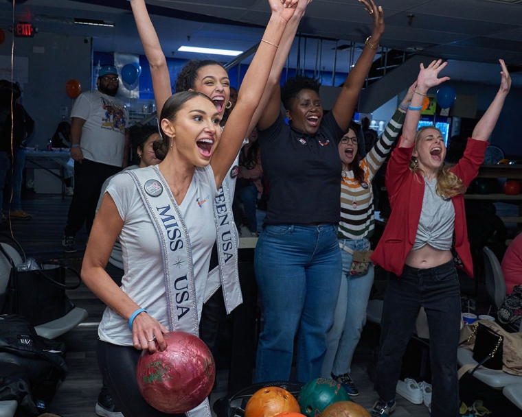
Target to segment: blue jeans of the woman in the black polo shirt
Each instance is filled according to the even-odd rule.
[[[256,382],[290,379],[297,329],[297,381],[319,378],[341,281],[337,225],[266,226],[254,262],[264,309]]]

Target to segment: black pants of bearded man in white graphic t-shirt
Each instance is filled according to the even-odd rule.
[[[65,236],[76,236],[83,224],[87,228],[87,235],[91,234],[102,185],[107,178],[121,170],[122,167],[87,159],[82,160],[82,163],[74,163],[74,195],[63,230]]]

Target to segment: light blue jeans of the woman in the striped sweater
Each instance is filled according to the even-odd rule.
[[[352,250],[370,249],[368,239],[339,239],[339,243]],[[331,374],[350,373],[352,357],[366,323],[366,307],[374,283],[374,265],[372,263],[370,263],[367,274],[352,276],[350,267],[352,267],[353,255],[343,249],[340,250],[343,259],[343,274],[335,307],[334,325],[326,339],[326,356],[321,368],[321,375],[324,378],[330,378]]]

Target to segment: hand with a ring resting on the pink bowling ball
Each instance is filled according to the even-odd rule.
[[[166,327],[145,311],[139,313],[133,321],[133,345],[138,350],[155,353],[159,348],[163,352],[167,348],[163,333],[168,333]]]

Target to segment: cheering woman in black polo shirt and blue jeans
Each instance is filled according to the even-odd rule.
[[[332,110],[323,115],[315,80],[296,77],[282,89],[276,84],[258,123],[263,171],[271,191],[255,258],[264,308],[258,382],[290,378],[297,329],[297,380],[308,382],[321,374],[342,272],[337,144],[348,129],[384,31],[382,8],[372,0],[359,1],[372,16],[373,32]],[[280,112],[280,99],[289,126]]]

